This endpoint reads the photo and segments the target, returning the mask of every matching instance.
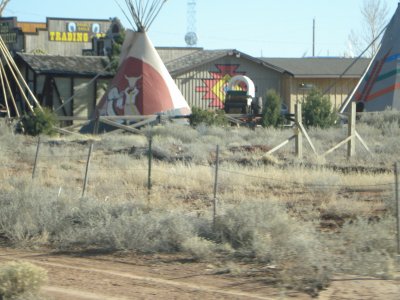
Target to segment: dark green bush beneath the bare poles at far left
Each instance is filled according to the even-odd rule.
[[[40,134],[54,135],[56,122],[56,116],[49,108],[41,110],[36,107],[34,113],[25,114],[21,118],[21,131],[33,136]]]

